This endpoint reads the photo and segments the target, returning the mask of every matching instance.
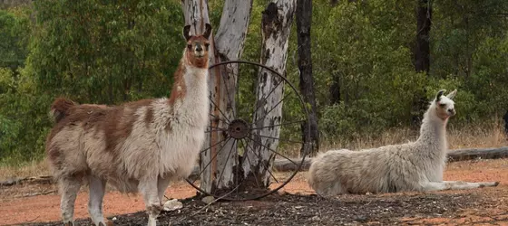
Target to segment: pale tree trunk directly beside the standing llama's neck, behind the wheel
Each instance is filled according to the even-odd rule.
[[[210,23],[208,5],[206,0],[182,1],[185,23],[191,24],[194,31],[205,31],[205,23]],[[239,59],[249,26],[252,0],[226,0],[220,19],[220,27],[215,36],[211,36],[210,43],[210,66],[220,61]],[[212,24],[213,26],[213,24]],[[216,67],[210,71],[210,127],[209,130],[217,130],[217,127],[227,128],[227,121],[235,115],[234,93],[237,83],[238,68]],[[215,129],[214,129],[215,128]],[[220,131],[207,133],[204,148],[210,147],[209,151],[200,155],[200,187],[208,193],[228,187],[234,180],[233,169],[238,167],[237,144]],[[235,151],[233,151],[235,150]],[[210,163],[210,164],[209,164]]]

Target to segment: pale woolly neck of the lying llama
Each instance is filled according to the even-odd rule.
[[[425,112],[422,127],[420,127],[420,137],[416,141],[417,144],[425,146],[425,153],[431,155],[444,155],[447,149],[446,142],[446,123],[437,117],[434,104]]]

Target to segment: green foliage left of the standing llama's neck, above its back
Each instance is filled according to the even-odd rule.
[[[180,2],[44,0],[34,11],[37,23],[24,29],[27,15],[0,14],[8,25],[0,38],[19,44],[12,52],[29,50],[24,69],[1,71],[0,162],[43,156],[47,111],[58,96],[117,104],[169,95],[183,50]]]

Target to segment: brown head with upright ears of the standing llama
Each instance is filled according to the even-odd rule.
[[[210,46],[211,25],[206,24],[206,30],[201,35],[190,35],[190,25],[183,28],[183,36],[187,41],[185,49],[186,60],[193,66],[198,68],[206,68],[208,66],[208,55]]]

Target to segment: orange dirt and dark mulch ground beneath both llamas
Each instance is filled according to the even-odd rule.
[[[341,195],[323,199],[315,195],[299,174],[283,193],[259,201],[216,202],[210,206],[192,199],[189,185],[173,184],[166,195],[183,199],[183,209],[164,212],[160,225],[508,225],[508,159],[452,163],[446,180],[499,181],[494,188],[436,193]],[[59,196],[54,185],[0,188],[0,223],[61,225]],[[30,197],[36,193],[48,193]],[[17,197],[16,197],[17,195]],[[75,215],[80,225],[90,225],[88,195],[78,196]],[[145,225],[147,216],[139,195],[106,194],[104,212],[116,225]]]

